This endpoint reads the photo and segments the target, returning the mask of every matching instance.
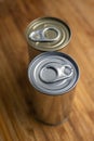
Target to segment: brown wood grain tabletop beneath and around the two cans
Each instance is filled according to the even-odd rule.
[[[63,52],[80,66],[72,113],[59,126],[31,114],[26,26],[40,16],[69,24]],[[0,141],[94,141],[94,0],[0,0]]]

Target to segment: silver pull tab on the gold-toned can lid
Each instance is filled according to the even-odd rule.
[[[54,33],[54,37],[48,38],[48,34]],[[29,38],[32,41],[39,41],[39,42],[53,42],[58,40],[61,37],[61,31],[55,27],[46,27],[43,29],[35,30],[29,35]]]

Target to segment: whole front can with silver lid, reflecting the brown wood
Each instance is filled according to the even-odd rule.
[[[77,63],[67,54],[44,52],[30,62],[28,78],[36,118],[49,125],[67,119],[79,78]]]

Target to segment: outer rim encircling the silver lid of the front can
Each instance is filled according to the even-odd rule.
[[[30,79],[30,69],[29,69],[29,68],[30,68],[31,64],[32,64],[37,59],[39,59],[39,56],[42,56],[42,55],[48,54],[48,53],[51,53],[51,52],[43,52],[43,53],[37,55],[37,56],[29,63],[29,66],[28,66],[28,79],[29,79],[30,85],[32,85],[32,87],[33,87],[35,89],[37,89],[37,91],[41,92],[42,94],[46,94],[46,95],[51,95],[51,97],[58,97],[58,95],[63,95],[63,94],[66,94],[66,93],[70,92],[70,91],[76,87],[76,85],[77,85],[77,82],[78,82],[78,80],[79,80],[79,78],[80,78],[80,69],[79,69],[79,67],[78,67],[78,65],[77,65],[77,62],[76,62],[70,55],[68,55],[68,54],[66,54],[66,53],[55,52],[55,51],[54,51],[54,53],[58,53],[58,54],[61,54],[61,55],[65,55],[65,56],[67,56],[68,59],[70,59],[70,60],[73,62],[75,67],[76,67],[76,69],[77,69],[77,74],[78,74],[78,75],[77,75],[76,82],[75,82],[68,90],[63,91],[63,92],[59,92],[58,94],[52,94],[52,93],[50,93],[50,92],[44,92],[44,91],[41,90],[40,88],[36,87],[36,85],[35,85],[35,84],[32,82],[32,80]]]

